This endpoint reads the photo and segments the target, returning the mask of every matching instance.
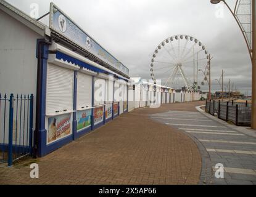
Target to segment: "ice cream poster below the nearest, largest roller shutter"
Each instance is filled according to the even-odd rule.
[[[48,119],[47,143],[62,139],[70,134],[70,114]]]

